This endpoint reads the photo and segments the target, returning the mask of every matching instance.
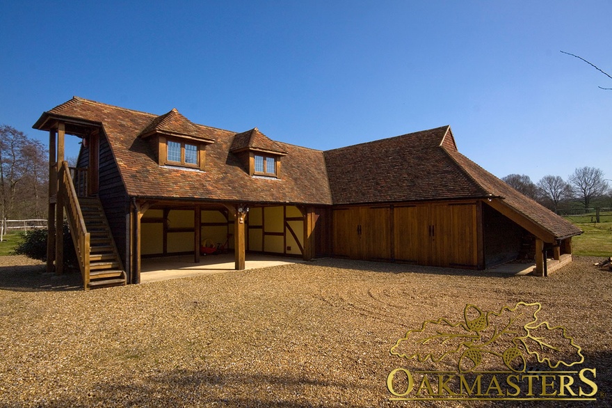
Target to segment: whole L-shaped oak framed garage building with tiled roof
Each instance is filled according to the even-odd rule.
[[[469,269],[526,257],[543,274],[581,233],[460,154],[449,126],[321,151],[73,97],[33,127],[49,132],[47,268],[62,272],[66,217],[86,289],[209,246],[236,269],[253,252]],[[75,168],[66,134],[82,139]]]

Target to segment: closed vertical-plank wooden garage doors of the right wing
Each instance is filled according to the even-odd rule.
[[[334,207],[332,253],[483,269],[481,206],[472,200]]]

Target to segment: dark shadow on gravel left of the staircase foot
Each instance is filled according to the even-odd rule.
[[[11,266],[0,267],[0,290],[15,292],[83,290],[83,283],[79,274],[47,274],[45,265]]]

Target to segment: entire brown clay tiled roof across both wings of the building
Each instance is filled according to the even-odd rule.
[[[44,113],[35,127],[42,128],[45,115],[102,123],[129,196],[309,205],[499,196],[555,237],[580,233],[461,155],[449,126],[322,152],[272,141],[257,128],[236,134],[195,125],[175,109],[160,117],[74,97]],[[159,166],[154,147],[138,137],[147,132],[212,141],[206,146],[207,171]],[[232,153],[248,148],[286,153],[282,180],[250,177]]]

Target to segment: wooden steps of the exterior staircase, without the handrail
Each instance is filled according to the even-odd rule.
[[[86,289],[125,285],[125,272],[102,203],[96,197],[81,197],[79,204],[90,233],[89,285]]]

